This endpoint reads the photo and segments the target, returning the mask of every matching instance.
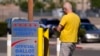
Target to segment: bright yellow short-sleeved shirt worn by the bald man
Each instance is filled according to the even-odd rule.
[[[59,23],[64,28],[61,31],[61,42],[77,42],[80,18],[75,13],[64,15]]]

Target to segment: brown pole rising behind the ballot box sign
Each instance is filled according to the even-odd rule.
[[[28,0],[28,20],[33,21],[33,0]]]

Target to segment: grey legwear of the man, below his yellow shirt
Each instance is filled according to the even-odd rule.
[[[72,56],[74,49],[73,43],[61,43],[60,56]]]

